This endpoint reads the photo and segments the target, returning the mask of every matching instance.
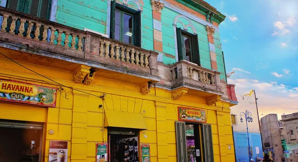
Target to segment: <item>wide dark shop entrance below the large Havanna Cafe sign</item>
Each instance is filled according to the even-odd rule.
[[[1,162],[41,162],[43,123],[0,120]]]

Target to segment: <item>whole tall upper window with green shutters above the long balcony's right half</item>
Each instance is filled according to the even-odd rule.
[[[110,38],[141,47],[141,11],[111,1]]]

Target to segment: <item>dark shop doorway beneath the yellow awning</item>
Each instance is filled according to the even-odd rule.
[[[139,130],[108,129],[109,162],[139,162]]]

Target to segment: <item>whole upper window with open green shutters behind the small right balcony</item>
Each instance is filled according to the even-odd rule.
[[[200,64],[198,35],[176,28],[178,60]]]

